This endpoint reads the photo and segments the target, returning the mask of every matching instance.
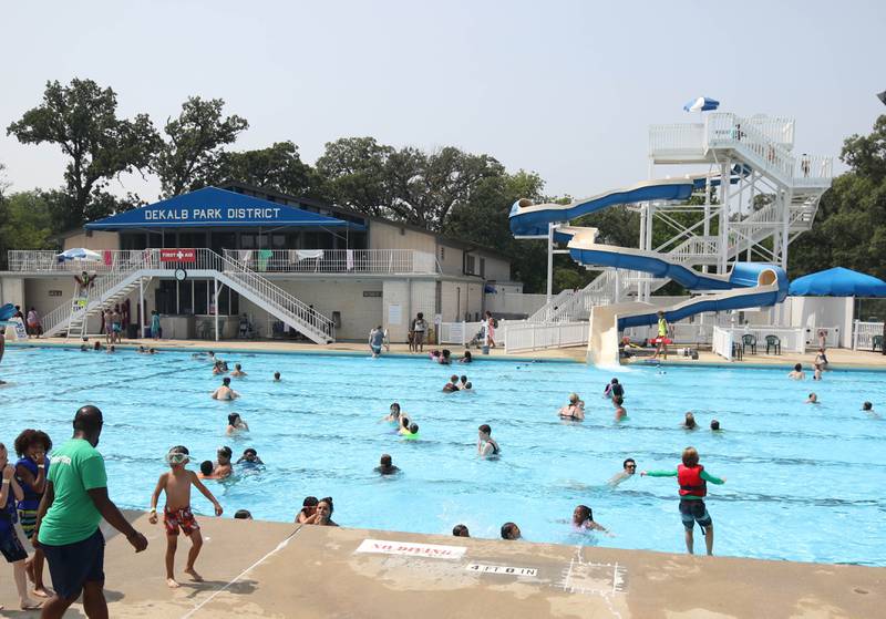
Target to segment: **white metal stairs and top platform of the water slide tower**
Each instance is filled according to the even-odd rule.
[[[797,157],[791,152],[792,146],[793,122],[784,118],[714,113],[703,124],[650,127],[650,156],[656,163],[720,165],[721,169],[745,165],[753,173],[750,178],[742,175],[735,194],[741,196],[750,187],[748,193],[753,196],[755,184],[760,184],[774,199],[748,214],[742,213],[741,203],[734,213],[730,210],[734,204],[730,205],[729,199],[714,206],[713,209],[731,213],[727,217],[724,248],[723,238],[687,229],[655,249],[647,246],[647,250],[664,254],[687,266],[710,268],[735,260],[742,252],[750,255],[752,249],[758,254],[765,251],[761,244],[772,238],[775,248],[764,259],[773,262],[782,259],[786,264],[779,256],[779,248],[785,252],[793,239],[812,227],[818,202],[832,179],[831,157]],[[723,162],[729,163],[723,165]],[[656,208],[681,206],[666,204]],[[785,234],[787,238],[780,245],[779,239]],[[530,320],[536,317],[536,321],[545,322],[587,320],[594,306],[632,300],[640,297],[643,288],[653,292],[667,282],[648,274],[607,269],[585,288],[566,296],[562,292]]]

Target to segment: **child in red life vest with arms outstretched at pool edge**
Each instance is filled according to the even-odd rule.
[[[694,539],[692,536],[696,523],[704,533],[704,545],[708,555],[713,555],[713,522],[708,508],[704,506],[704,496],[708,494],[708,482],[712,484],[724,484],[725,477],[714,477],[699,464],[699,452],[696,447],[683,450],[683,463],[677,466],[677,471],[642,471],[640,476],[650,477],[677,477],[680,484],[680,518],[686,528],[686,549],[690,555],[693,553]]]

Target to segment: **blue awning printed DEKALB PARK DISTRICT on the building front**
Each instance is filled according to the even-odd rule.
[[[364,226],[352,221],[218,187],[204,187],[86,224],[91,230],[217,226],[364,229]]]

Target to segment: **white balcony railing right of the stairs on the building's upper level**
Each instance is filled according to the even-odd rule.
[[[225,249],[258,272],[435,274],[436,257],[413,249]]]

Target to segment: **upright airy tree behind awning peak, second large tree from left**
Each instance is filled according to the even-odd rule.
[[[163,132],[167,140],[153,162],[164,197],[195,189],[214,177],[224,147],[249,127],[246,118],[236,114],[223,117],[224,106],[222,99],[190,96],[182,104],[178,117],[166,121]]]

